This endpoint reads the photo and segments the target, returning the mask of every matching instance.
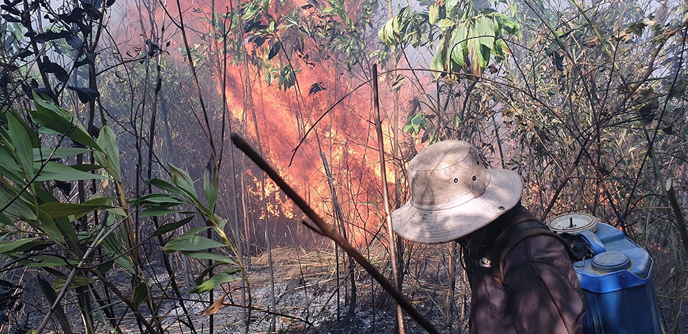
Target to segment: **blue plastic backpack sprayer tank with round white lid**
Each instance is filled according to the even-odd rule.
[[[652,258],[621,230],[590,214],[563,214],[549,221],[561,234],[592,255],[573,263],[588,301],[584,332],[662,333],[652,285]]]

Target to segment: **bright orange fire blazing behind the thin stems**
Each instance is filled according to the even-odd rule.
[[[131,12],[138,12],[138,8],[134,8],[131,3],[127,3],[127,6],[130,6]],[[219,5],[215,10],[224,11],[224,6],[225,4]],[[212,12],[208,4],[183,1],[180,7],[184,13],[186,27],[193,27],[193,31],[201,32],[211,30],[209,21],[204,21],[204,18],[210,15],[208,13]],[[299,10],[299,7],[300,4],[285,3],[279,12]],[[355,3],[347,3],[345,8],[359,8],[359,6]],[[168,2],[166,10],[172,16],[179,15],[176,2]],[[272,10],[270,12],[275,17],[279,17],[278,13]],[[303,14],[305,15],[305,12]],[[355,13],[350,14],[353,17]],[[157,22],[169,23],[170,21],[162,10],[153,13],[153,17],[158,19]],[[126,15],[123,19],[125,18]],[[233,29],[237,30],[237,22],[232,23]],[[138,27],[138,23],[136,26]],[[140,27],[140,30],[147,29],[150,28]],[[191,32],[192,29],[187,30],[187,34]],[[166,31],[164,36],[171,38],[169,49],[172,50],[164,56],[178,57],[185,63],[182,66],[188,66],[184,52],[173,51],[175,46],[183,48],[180,34]],[[230,36],[230,38],[240,37]],[[202,40],[191,34],[189,43],[212,49],[210,46],[212,43],[207,41],[207,36],[205,38]],[[340,64],[328,59],[329,57],[319,58],[316,45],[305,45],[307,49],[304,50],[304,54],[310,56],[308,59],[305,56],[299,58],[294,52],[290,55],[292,58],[287,59],[281,52],[272,60],[268,60],[267,55],[263,54],[264,46],[257,47],[244,41],[244,47],[246,47],[246,54],[243,56],[255,54],[256,62],[271,63],[272,69],[288,63],[297,67],[300,70],[297,73],[297,85],[286,91],[279,89],[277,82],[268,85],[265,77],[266,71],[270,71],[270,68],[257,69],[254,63],[249,64],[246,69],[246,64],[249,62],[239,61],[239,58],[230,59],[226,69],[223,69],[228,76],[224,91],[219,85],[223,78],[222,73],[215,73],[212,78],[202,78],[202,85],[214,82],[211,85],[215,85],[217,96],[226,96],[225,103],[228,106],[228,114],[233,118],[233,124],[246,124],[246,129],[235,128],[234,131],[247,137],[254,143],[255,148],[260,148],[261,154],[290,183],[292,188],[297,190],[302,197],[310,200],[311,205],[323,218],[330,219],[334,223],[336,199],[341,207],[345,225],[350,229],[347,235],[354,243],[359,245],[367,243],[376,233],[378,224],[384,221],[384,206],[380,196],[383,175],[380,170],[378,139],[374,129],[370,85],[364,85],[352,93],[352,90],[361,84],[361,78],[348,75]],[[309,47],[312,50],[309,51]],[[212,58],[202,65],[208,66],[211,62],[215,62],[215,59]],[[214,65],[215,63],[212,64]],[[320,85],[321,89],[313,92],[311,88],[316,84]],[[183,85],[193,87],[193,82],[189,80]],[[336,105],[316,124],[321,115],[347,93],[351,95]],[[384,94],[385,92],[383,96],[380,96],[380,100],[383,101],[380,111],[383,113],[383,141],[387,152],[385,155],[387,182],[390,186],[389,192],[392,193],[395,179],[392,172],[394,166],[391,164],[389,153],[393,147],[391,127],[397,124],[391,124],[391,118],[388,117],[388,111],[391,109],[385,109],[385,103],[391,104],[391,97]],[[214,110],[213,126],[217,127],[213,129],[213,133],[217,133],[222,117],[218,109]],[[312,131],[299,146],[299,142],[309,129]],[[293,150],[297,146],[298,151],[294,155]],[[294,155],[293,161],[292,155]],[[323,166],[323,155],[332,175],[330,181],[333,184],[334,194],[332,194],[330,181]],[[267,177],[257,175],[257,169],[246,167],[248,169],[243,173],[248,183],[245,191],[252,201],[248,205],[248,210],[252,210],[251,214],[259,221],[286,219],[290,221],[287,223],[293,223],[293,221],[300,223],[302,214],[294,210],[294,205],[286,199],[275,183]],[[226,173],[228,168],[223,168],[223,170]],[[264,205],[257,205],[262,201],[265,201]]]

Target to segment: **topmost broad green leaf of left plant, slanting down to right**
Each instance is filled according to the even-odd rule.
[[[43,100],[36,92],[33,92],[33,94],[36,110],[30,111],[30,113],[34,122],[58,134],[67,135],[74,142],[100,150],[100,146],[96,144],[91,135],[86,131],[86,128],[74,115],[67,113],[67,111],[64,111],[50,100]]]

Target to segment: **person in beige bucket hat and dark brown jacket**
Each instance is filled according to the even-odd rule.
[[[460,243],[471,334],[583,332],[587,307],[566,247],[537,232],[546,227],[521,204],[516,172],[487,168],[471,144],[446,140],[411,159],[407,179],[411,197],[391,213],[394,232],[418,243]],[[537,233],[504,245],[517,230]]]

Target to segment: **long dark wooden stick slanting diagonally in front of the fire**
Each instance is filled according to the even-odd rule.
[[[403,309],[409,313],[409,316],[413,318],[413,320],[416,320],[422,328],[425,329],[428,333],[431,334],[439,334],[440,332],[435,329],[435,327],[425,318],[422,314],[420,314],[413,306],[411,303],[402,295],[394,285],[383,276],[383,274],[380,274],[380,271],[376,269],[371,263],[368,262],[368,260],[363,257],[361,253],[359,253],[354,246],[352,246],[346,239],[339,234],[334,226],[325,223],[325,220],[323,220],[316,212],[306,203],[306,201],[301,198],[301,196],[294,190],[292,187],[290,187],[282,177],[279,176],[279,173],[275,169],[266,162],[263,157],[261,157],[256,151],[253,150],[253,148],[242,138],[240,135],[237,133],[232,133],[232,142],[246,154],[255,164],[261,168],[266,174],[272,179],[272,181],[275,181],[277,183],[277,186],[289,197],[292,201],[294,201],[294,204],[296,204],[303,213],[310,218],[315,225],[312,225],[310,223],[307,223],[306,221],[303,221],[303,224],[308,226],[311,230],[316,232],[317,234],[321,234],[323,236],[327,236],[327,238],[332,239],[334,243],[336,243],[339,247],[342,247],[347,254],[352,256],[358,264],[365,269],[365,271],[370,274],[370,276],[373,276],[375,280],[380,283],[380,285],[389,293],[394,300],[398,304],[401,305]]]

